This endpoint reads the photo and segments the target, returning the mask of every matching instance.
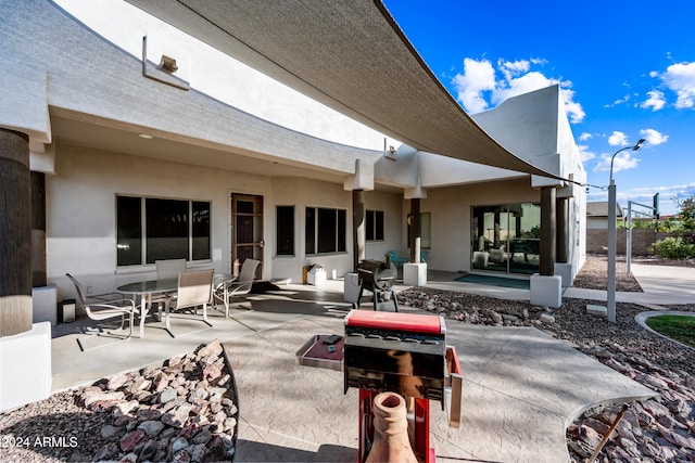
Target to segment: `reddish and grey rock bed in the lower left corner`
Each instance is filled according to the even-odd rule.
[[[233,459],[235,380],[217,342],[0,416],[2,462]]]

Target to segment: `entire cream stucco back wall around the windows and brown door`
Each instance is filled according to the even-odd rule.
[[[111,292],[128,281],[154,276],[154,266],[116,267],[115,195],[211,201],[213,260],[197,262],[217,271],[231,270],[230,193],[264,198],[263,278],[302,281],[302,267],[324,266],[342,276],[352,271],[352,193],[342,184],[301,178],[270,178],[201,166],[167,163],[139,156],[56,146],[55,175],[47,177],[47,267],[50,283],[59,286],[59,300],[72,297],[70,272],[92,286],[93,293]],[[367,257],[382,258],[403,246],[402,195],[367,192],[367,209],[384,210],[384,241],[370,242]],[[295,256],[276,256],[276,205],[293,205]],[[307,206],[348,211],[348,249],[305,256],[304,210]]]

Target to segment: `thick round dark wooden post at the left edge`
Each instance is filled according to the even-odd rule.
[[[0,337],[31,330],[29,138],[0,128]]]

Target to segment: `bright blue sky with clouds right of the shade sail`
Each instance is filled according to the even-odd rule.
[[[559,83],[591,188],[674,214],[695,195],[695,2],[384,0],[469,114]]]

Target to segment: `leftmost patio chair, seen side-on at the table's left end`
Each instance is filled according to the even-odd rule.
[[[65,276],[67,276],[70,281],[72,281],[75,285],[77,300],[79,305],[85,309],[85,312],[87,313],[87,317],[89,319],[101,322],[103,320],[110,320],[121,317],[121,326],[118,327],[118,330],[123,330],[126,317],[128,317],[128,335],[122,340],[126,340],[130,338],[130,336],[132,336],[132,323],[135,314],[138,311],[132,299],[125,298],[121,293],[104,293],[87,296],[83,285],[73,275],[71,275],[70,273],[65,273]],[[121,298],[112,299],[112,296],[119,296]],[[106,333],[112,334],[110,332]],[[79,339],[77,339],[77,344],[84,351],[85,348]]]

